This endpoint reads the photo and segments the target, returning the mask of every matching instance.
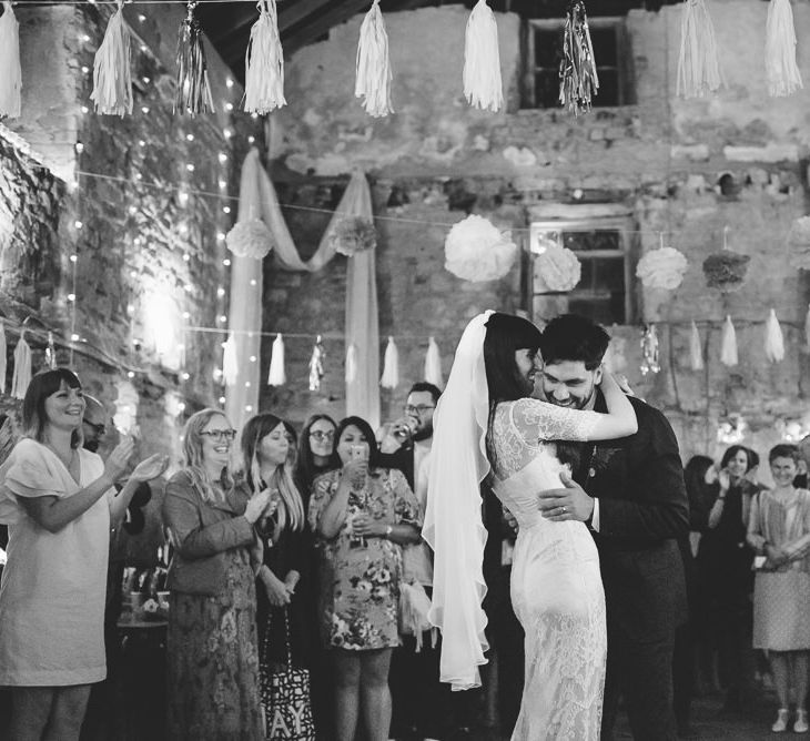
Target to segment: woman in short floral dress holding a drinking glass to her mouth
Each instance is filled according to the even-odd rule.
[[[422,512],[405,477],[378,468],[367,422],[337,426],[343,468],[315,479],[310,522],[321,539],[321,627],[335,654],[336,741],[354,739],[362,710],[368,741],[391,724],[388,667],[399,644],[401,546],[417,542]]]

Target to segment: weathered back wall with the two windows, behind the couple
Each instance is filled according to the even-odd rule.
[[[560,110],[518,110],[520,21],[514,14],[498,16],[507,106],[497,114],[464,102],[467,11],[460,7],[386,14],[396,110],[387,119],[367,118],[352,94],[362,17],[291,60],[290,104],[271,118],[267,139],[280,197],[328,207],[324,204],[336,201],[335,183],[345,173],[353,166],[368,172],[375,213],[383,217],[381,344],[387,334],[403,337],[403,378],[422,375],[428,335],[436,335],[447,372],[472,314],[489,306],[530,308],[527,260],[496,283],[468,284],[444,271],[449,224],[467,212],[482,213],[515,230],[525,245],[536,204],[614,203],[632,215],[639,254],[658,246],[664,231],[689,260],[676,292],[635,288],[639,323],[659,323],[661,373],[642,377],[638,369],[640,324],[611,329],[618,363],[640,395],[666,408],[685,457],[725,447],[716,432],[730,415],[742,415],[746,441],[760,453],[781,439],[786,420],[810,427],[801,382],[808,286],[804,275],[790,267],[784,243],[792,220],[806,212],[808,93],[768,97],[767,6],[725,0],[710,11],[728,85],[706,99],[678,99],[680,10],[630,11],[636,103],[579,118]],[[806,38],[810,11],[797,6],[794,17],[797,35]],[[810,55],[801,43],[799,62],[810,80]],[[324,189],[330,197],[320,196]],[[286,213],[302,251],[311,251],[325,217]],[[751,256],[748,283],[735,294],[707,290],[701,271],[703,258],[722,247],[726,226],[729,246]],[[263,406],[294,419],[323,408],[342,414],[344,271],[341,260],[320,275],[287,275],[271,261],[265,265],[265,328],[335,336],[327,345],[330,376],[322,393],[306,390],[312,341],[300,338],[288,345],[293,380],[269,389]],[[767,363],[763,353],[763,321],[771,307],[782,321],[788,348],[778,365]],[[719,363],[727,314],[737,322],[741,357],[731,369]],[[701,373],[688,368],[691,319],[700,324],[708,351]],[[405,390],[404,384],[392,398],[384,394],[384,416],[396,412]]]

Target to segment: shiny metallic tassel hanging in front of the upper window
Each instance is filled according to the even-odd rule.
[[[599,90],[594,45],[583,0],[571,0],[563,31],[563,61],[559,63],[559,102],[574,115],[590,110]]]

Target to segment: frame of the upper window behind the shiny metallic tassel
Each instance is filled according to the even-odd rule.
[[[593,108],[621,108],[634,105],[636,102],[634,80],[631,74],[630,54],[630,37],[627,32],[625,18],[620,16],[605,16],[597,18],[588,18],[588,27],[590,29],[612,29],[616,35],[616,60],[611,60],[612,64],[599,64],[597,59],[597,73],[599,70],[616,70],[616,87],[618,91],[618,101],[610,105],[599,104],[599,93],[594,97]],[[536,100],[535,75],[538,71],[550,68],[535,65],[535,31],[557,31],[561,34],[565,28],[565,19],[561,18],[527,18],[524,19],[520,50],[523,52],[523,75],[520,90],[520,109],[550,111],[558,108],[559,103],[554,106],[541,106]],[[556,69],[559,74],[559,68]]]

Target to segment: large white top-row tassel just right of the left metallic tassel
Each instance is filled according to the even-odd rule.
[[[264,114],[287,102],[284,100],[284,52],[275,0],[260,0],[259,13],[245,51],[244,110]]]

